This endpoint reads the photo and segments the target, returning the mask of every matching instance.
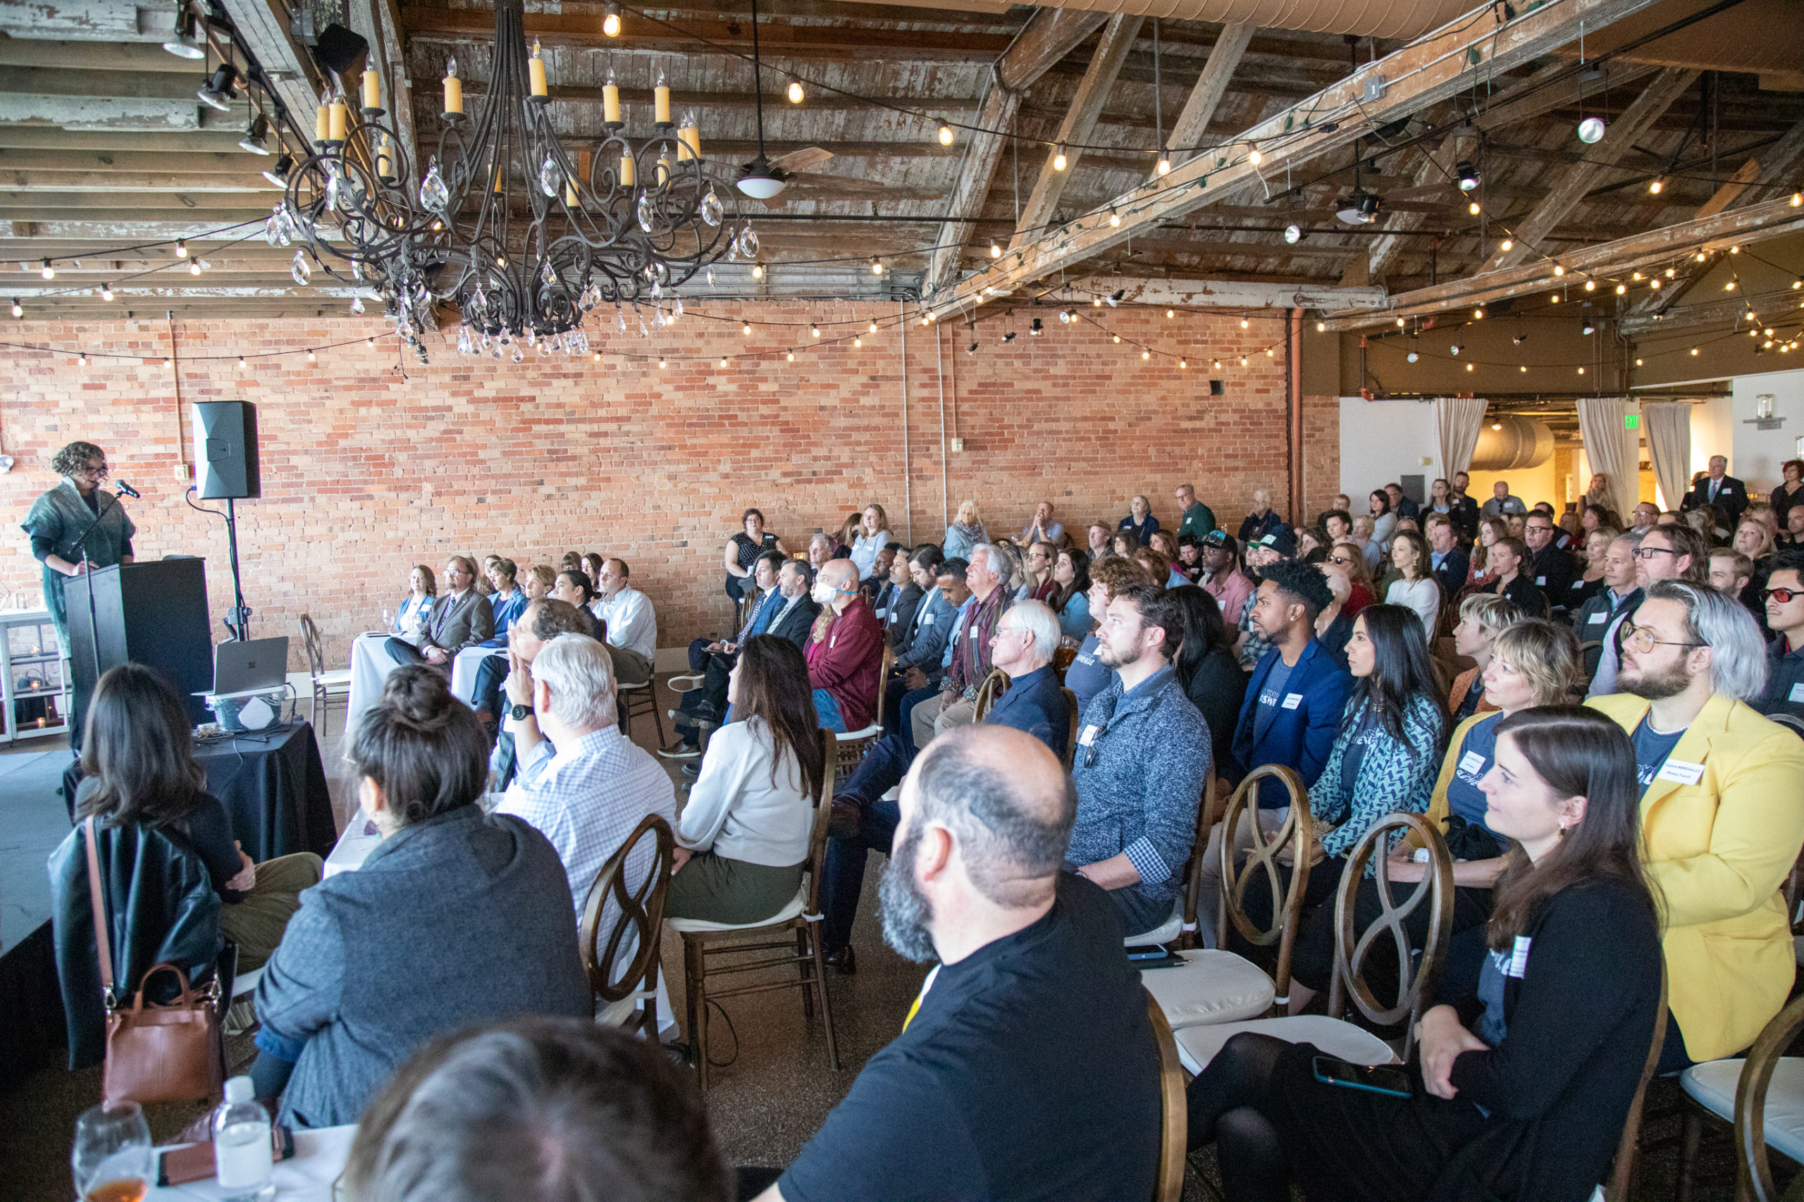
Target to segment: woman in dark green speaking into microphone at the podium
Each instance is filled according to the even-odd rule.
[[[130,563],[137,527],[117,496],[99,491],[106,478],[106,451],[92,442],[70,442],[51,458],[51,467],[63,482],[32,502],[25,514],[25,532],[31,534],[32,558],[43,563],[43,603],[67,655],[63,579],[90,569]]]

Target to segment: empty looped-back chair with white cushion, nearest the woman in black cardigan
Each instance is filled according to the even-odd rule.
[[[1232,801],[1229,803],[1232,810]],[[1293,810],[1295,812],[1295,810]],[[1413,832],[1422,846],[1429,850],[1427,872],[1422,881],[1404,897],[1402,902],[1391,893],[1387,870],[1387,852],[1394,836]],[[1221,843],[1225,855],[1230,839]],[[1301,846],[1308,846],[1306,843]],[[1367,863],[1376,865],[1378,902],[1382,913],[1364,931],[1355,929],[1353,899],[1366,879]],[[1301,874],[1299,874],[1301,875]],[[1223,886],[1227,877],[1223,877]],[[1275,892],[1275,886],[1274,886]],[[1422,948],[1422,958],[1398,955],[1396,960],[1396,1002],[1385,1005],[1366,982],[1366,962],[1373,946],[1380,938],[1391,940],[1394,948],[1407,946],[1404,922],[1420,906],[1429,908],[1429,937]],[[1234,908],[1234,920],[1245,915]],[[1292,917],[1293,922],[1293,917]],[[1328,991],[1328,1014],[1292,1014],[1281,1018],[1257,1018],[1234,1023],[1209,1023],[1178,1031],[1178,1056],[1191,1072],[1201,1072],[1221,1045],[1241,1031],[1256,1031],[1290,1043],[1313,1043],[1330,1056],[1353,1061],[1355,1065],[1400,1065],[1409,1059],[1416,1040],[1416,1020],[1427,1009],[1427,998],[1434,994],[1434,984],[1441,973],[1441,960],[1452,938],[1454,922],[1454,861],[1441,839],[1440,827],[1422,814],[1387,814],[1353,845],[1348,866],[1340,874],[1340,886],[1335,890],[1335,975]],[[1225,926],[1225,924],[1223,924]],[[1245,931],[1243,931],[1245,933]],[[1279,955],[1279,998],[1290,991],[1288,938]],[[1358,1012],[1371,1023],[1394,1027],[1402,1023],[1400,1047],[1380,1040],[1364,1027],[1340,1018],[1351,998]],[[1275,1000],[1275,1005],[1281,1003]],[[1275,1009],[1274,1005],[1274,1009]]]

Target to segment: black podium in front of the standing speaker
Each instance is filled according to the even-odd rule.
[[[96,641],[103,673],[124,662],[155,668],[188,706],[193,726],[211,718],[206,702],[195,697],[213,688],[213,624],[207,617],[204,559],[146,559],[70,576],[63,583],[63,599],[69,606],[74,684],[72,742],[81,742],[78,733],[87,720],[88,698],[94,697]]]

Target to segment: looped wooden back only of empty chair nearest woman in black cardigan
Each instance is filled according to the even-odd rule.
[[[1409,895],[1396,902],[1391,893],[1389,854],[1396,836],[1411,832],[1429,850],[1427,872]],[[1378,904],[1382,913],[1364,931],[1355,929],[1355,897],[1366,879],[1366,865],[1375,863]],[[1422,944],[1422,958],[1409,951],[1404,922],[1418,908],[1429,908],[1429,937]],[[1447,852],[1440,825],[1422,814],[1385,814],[1353,845],[1340,884],[1335,890],[1335,978],[1328,993],[1328,1014],[1340,1018],[1348,998],[1375,1023],[1407,1023],[1404,1032],[1404,1059],[1416,1040],[1416,1020],[1423,1000],[1432,996],[1434,982],[1447,957],[1454,929],[1454,857]],[[1396,948],[1396,1002],[1385,1005],[1366,984],[1366,957],[1373,944],[1389,935]]]

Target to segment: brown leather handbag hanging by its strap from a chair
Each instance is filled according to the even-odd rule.
[[[114,996],[112,938],[106,928],[106,897],[101,859],[94,845],[94,819],[83,823],[88,845],[88,897],[94,902],[94,944],[106,991],[106,1067],[101,1096],[117,1101],[198,1101],[218,1097],[226,1079],[226,1045],[218,1029],[218,978],[195,993],[175,964],[157,964],[137,984],[130,1007]],[[175,973],[182,996],[170,1005],[144,1002],[144,985],[157,973]]]

